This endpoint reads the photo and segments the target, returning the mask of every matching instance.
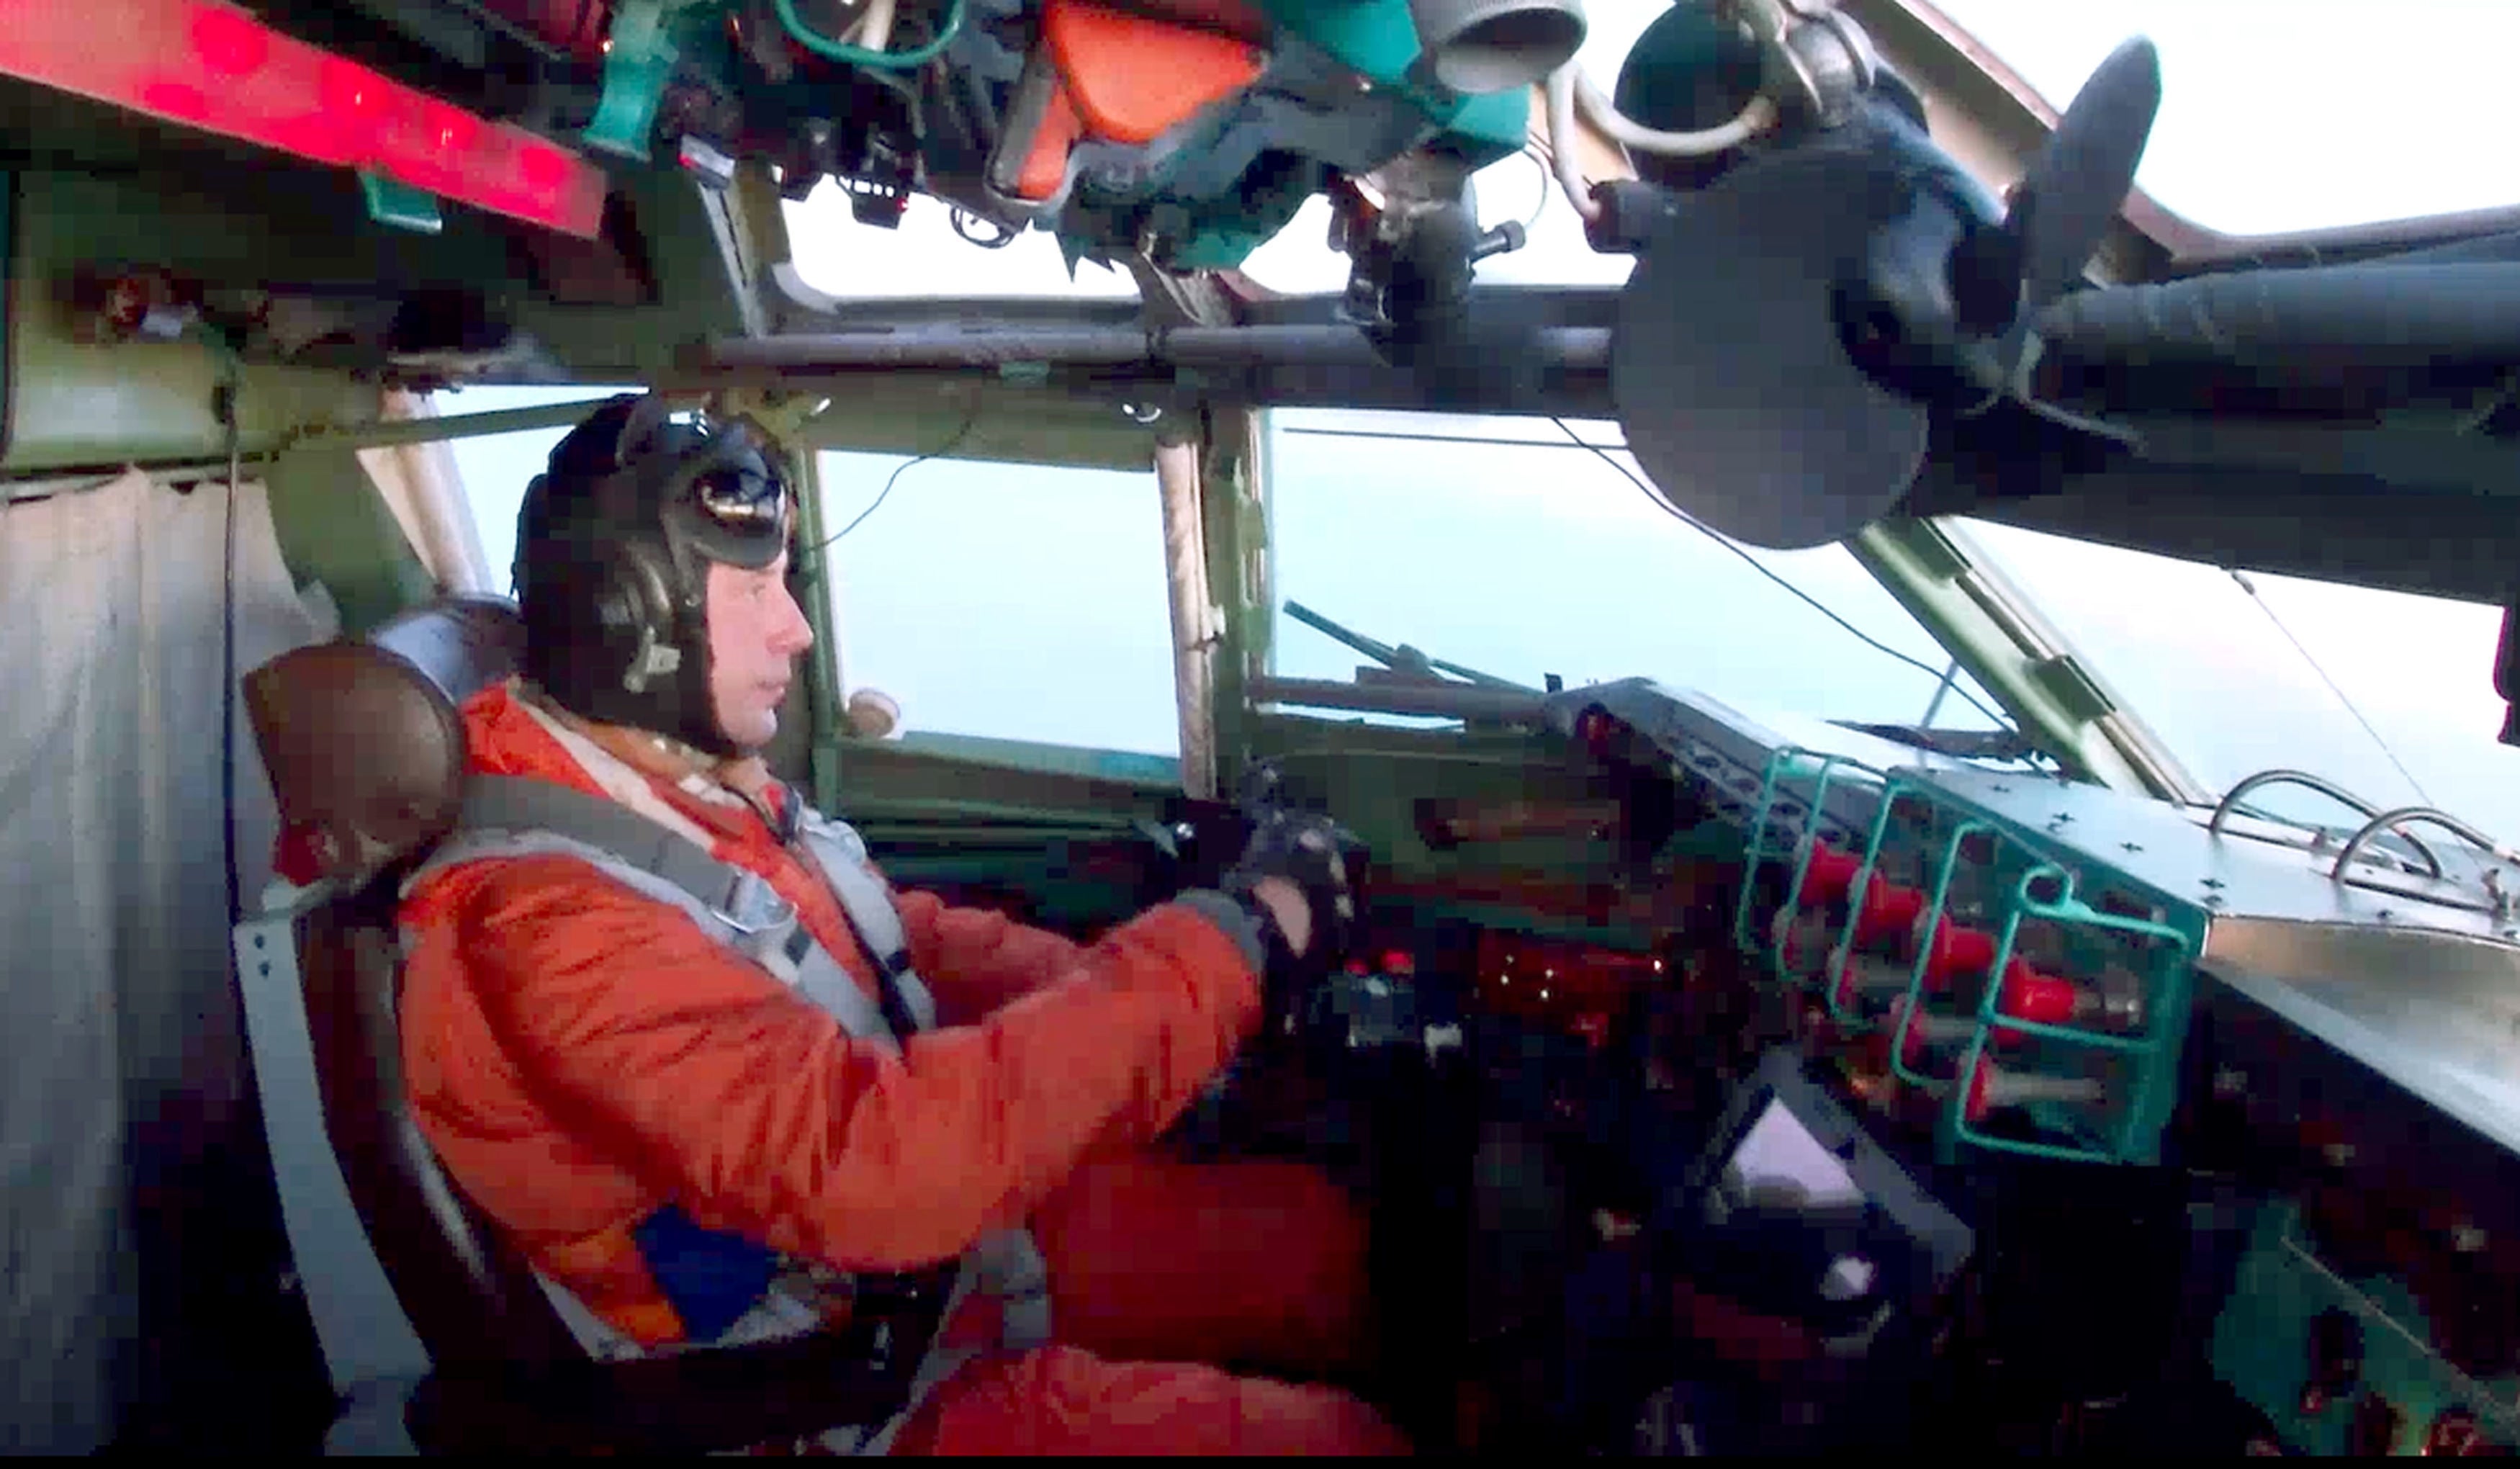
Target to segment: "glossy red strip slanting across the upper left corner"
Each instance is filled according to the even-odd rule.
[[[592,239],[605,174],[214,0],[0,0],[0,73]]]

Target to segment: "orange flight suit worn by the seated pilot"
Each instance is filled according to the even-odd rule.
[[[512,688],[471,698],[471,769],[607,794],[549,718]],[[874,993],[839,902],[753,806],[625,774]],[[769,781],[753,799],[791,796]],[[683,1335],[630,1235],[668,1202],[842,1270],[932,1265],[1028,1222],[1053,1346],[965,1366],[897,1451],[1406,1451],[1348,1393],[1194,1366],[1305,1376],[1351,1363],[1366,1333],[1363,1225],[1328,1179],[1147,1146],[1257,1023],[1242,947],[1182,905],[1074,945],[895,900],[937,1003],[902,1056],[570,857],[426,874],[401,915],[421,1131],[542,1272],[648,1346]],[[983,1313],[975,1295],[942,1340],[993,1340]]]

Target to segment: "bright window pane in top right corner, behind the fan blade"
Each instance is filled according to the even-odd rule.
[[[2064,108],[2129,35],[2162,53],[2134,181],[2223,234],[2520,204],[2500,58],[2520,8],[2477,0],[1935,0]]]

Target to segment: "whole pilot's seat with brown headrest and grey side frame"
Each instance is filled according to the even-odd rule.
[[[348,1358],[416,1340],[426,1363],[393,1401],[421,1451],[721,1451],[877,1421],[887,1383],[854,1333],[590,1358],[406,1106],[396,889],[459,809],[456,706],[514,673],[522,643],[514,605],[459,597],[244,680],[282,844],[320,879],[285,917],[239,927],[237,947],[290,1247],[335,1386],[355,1398]]]

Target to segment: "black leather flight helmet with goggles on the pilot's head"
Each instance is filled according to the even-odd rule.
[[[517,514],[527,678],[585,718],[743,753],[708,695],[708,564],[769,567],[794,524],[759,426],[612,398],[552,449]]]

